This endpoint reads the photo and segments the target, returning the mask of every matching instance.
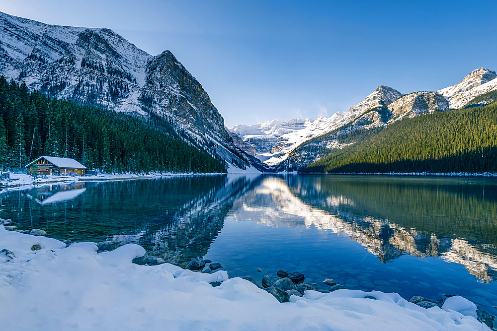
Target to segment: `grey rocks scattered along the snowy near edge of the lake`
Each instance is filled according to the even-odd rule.
[[[3,225],[6,230],[17,231],[23,234],[29,234],[33,236],[45,236],[46,232],[41,229],[31,229],[31,230],[17,230],[17,227],[12,225],[11,219],[2,219],[0,218],[0,225]],[[73,242],[71,240],[63,240],[63,243],[66,244],[66,247],[69,247]],[[98,245],[98,244],[97,244]],[[32,251],[40,250],[41,247],[39,245],[33,245],[31,247]],[[108,251],[109,247],[103,245],[98,245],[98,252]],[[13,253],[8,250],[1,250],[1,254],[12,255]],[[149,256],[145,254],[142,257],[135,258],[133,263],[137,265],[161,265],[165,263],[165,260],[162,258],[157,258],[154,256]],[[207,267],[206,267],[207,266]],[[223,266],[219,263],[213,263],[210,260],[204,260],[200,257],[197,257],[188,263],[188,269],[192,271],[197,271],[201,273],[212,273]],[[256,269],[257,272],[262,272],[262,269]],[[309,283],[306,281],[305,275],[298,271],[287,271],[285,269],[278,269],[276,271],[276,275],[265,274],[262,277],[260,284],[257,280],[251,276],[243,276],[242,279],[248,280],[253,283],[260,289],[264,289],[268,293],[272,294],[280,303],[290,302],[290,297],[292,295],[296,295],[299,297],[303,297],[306,291],[317,291],[320,293],[331,293],[336,290],[347,289],[346,286],[337,283],[331,278],[327,278],[321,281],[322,284],[318,283]],[[221,285],[221,282],[211,282],[213,287]],[[325,288],[321,288],[321,287]],[[351,288],[350,288],[351,289]],[[429,309],[435,306],[440,308],[450,305],[451,297],[459,297],[457,295],[452,294],[444,294],[444,297],[439,298],[437,300],[431,300],[422,296],[413,296],[409,302],[414,303],[415,305]],[[376,300],[377,298],[373,295],[365,295],[364,299]],[[470,302],[468,300],[468,302]],[[448,303],[448,304],[447,304]],[[470,302],[473,304],[472,302]],[[445,306],[444,306],[445,305]],[[473,304],[475,305],[475,304]],[[486,324],[489,328],[493,329],[493,321],[495,316],[490,315],[485,309],[481,306],[476,305],[476,314],[478,321]],[[495,329],[493,329],[495,330]]]

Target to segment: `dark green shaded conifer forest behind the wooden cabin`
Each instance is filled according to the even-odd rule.
[[[0,170],[23,169],[41,155],[107,173],[226,172],[224,161],[182,139],[164,119],[52,99],[1,76]]]

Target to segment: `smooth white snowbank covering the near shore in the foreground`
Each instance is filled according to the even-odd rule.
[[[135,244],[97,254],[94,243],[65,248],[0,225],[0,249],[11,252],[0,253],[4,330],[490,330],[463,298],[447,299],[444,310],[360,290],[307,291],[279,303],[226,271],[135,265],[133,258],[145,254]]]

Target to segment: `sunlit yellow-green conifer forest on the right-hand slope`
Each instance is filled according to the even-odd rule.
[[[419,115],[374,133],[301,172],[497,172],[497,103]]]

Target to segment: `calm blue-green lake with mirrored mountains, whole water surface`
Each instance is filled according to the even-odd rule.
[[[0,217],[59,240],[126,243],[186,267],[199,256],[260,282],[306,282],[439,299],[497,315],[497,180],[253,175],[79,182],[0,194]],[[256,269],[261,268],[262,273]]]

